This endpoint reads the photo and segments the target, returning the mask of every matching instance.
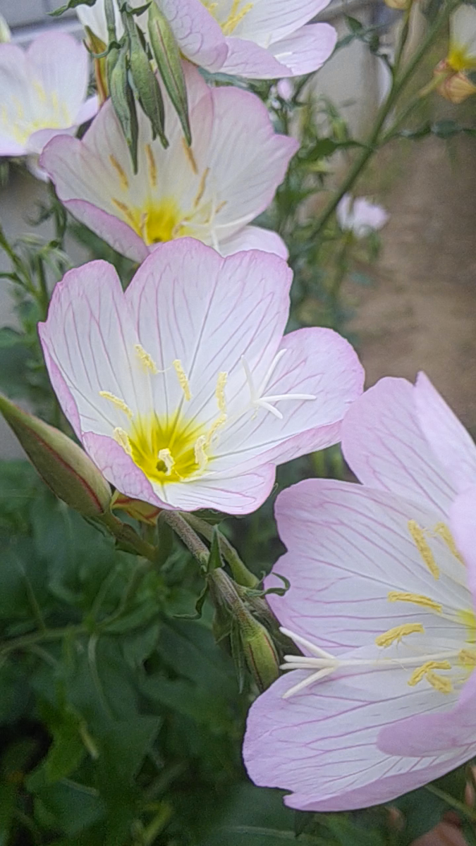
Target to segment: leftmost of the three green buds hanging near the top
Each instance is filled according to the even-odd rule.
[[[108,85],[114,112],[119,118],[119,123],[125,135],[125,140],[130,151],[132,167],[137,173],[137,138],[139,126],[137,124],[136,101],[129,84],[129,72],[127,68],[127,48],[117,47],[108,52],[107,57]]]

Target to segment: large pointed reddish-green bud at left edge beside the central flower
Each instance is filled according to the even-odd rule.
[[[111,489],[96,464],[71,438],[48,426],[0,393],[0,413],[13,429],[43,481],[83,517],[109,508]]]

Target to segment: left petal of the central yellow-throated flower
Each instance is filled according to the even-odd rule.
[[[150,411],[147,372],[136,353],[138,339],[113,266],[91,261],[66,273],[39,333],[47,364],[53,360],[74,399],[81,437],[89,431],[112,437],[115,427],[128,423],[125,411],[101,392],[112,393],[133,413]],[[59,399],[64,404],[64,391]],[[63,408],[66,414],[68,406]]]

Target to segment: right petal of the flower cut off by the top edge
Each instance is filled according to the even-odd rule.
[[[283,76],[311,74],[334,52],[337,32],[330,24],[308,24],[269,47],[274,58],[288,69]]]

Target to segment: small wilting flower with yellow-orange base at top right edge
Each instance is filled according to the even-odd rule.
[[[450,46],[446,59],[434,69],[440,78],[437,91],[446,100],[461,103],[476,94],[476,85],[468,76],[476,70],[476,8],[463,3],[451,15]]]

